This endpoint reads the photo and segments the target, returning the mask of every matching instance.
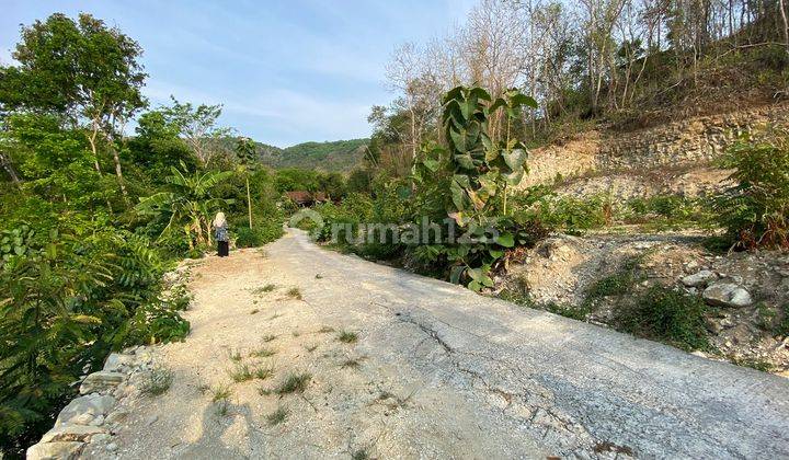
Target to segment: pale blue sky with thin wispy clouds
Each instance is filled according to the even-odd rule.
[[[220,123],[287,147],[366,137],[369,107],[393,97],[385,65],[395,46],[424,43],[462,22],[473,0],[46,1],[0,0],[0,62],[20,24],[88,12],[144,48],[146,95],[222,103]]]

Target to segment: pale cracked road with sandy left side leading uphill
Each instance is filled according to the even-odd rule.
[[[172,387],[129,399],[121,458],[789,456],[786,379],[324,251],[299,232],[265,254],[193,271],[192,334],[155,352]],[[264,348],[274,354],[250,356]],[[232,354],[273,376],[233,382]],[[305,372],[302,393],[276,393]],[[211,401],[219,388],[225,410]],[[277,407],[287,415],[272,424]]]

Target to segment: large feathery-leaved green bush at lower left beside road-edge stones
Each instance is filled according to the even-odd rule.
[[[158,299],[164,264],[149,240],[73,214],[60,227],[25,241],[26,250],[0,267],[3,448],[23,448],[50,428],[73,395],[70,383],[99,368],[112,348],[188,332]]]

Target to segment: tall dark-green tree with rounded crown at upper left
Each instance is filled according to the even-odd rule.
[[[90,14],[77,22],[53,14],[22,30],[13,53],[20,66],[2,69],[0,102],[7,110],[64,113],[87,125],[95,170],[101,174],[99,149],[106,147],[126,198],[116,143],[123,126],[146,105],[141,53],[134,39]]]

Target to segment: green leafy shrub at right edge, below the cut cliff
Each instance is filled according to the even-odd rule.
[[[789,133],[743,136],[719,165],[736,185],[716,198],[721,226],[743,249],[789,248]]]

